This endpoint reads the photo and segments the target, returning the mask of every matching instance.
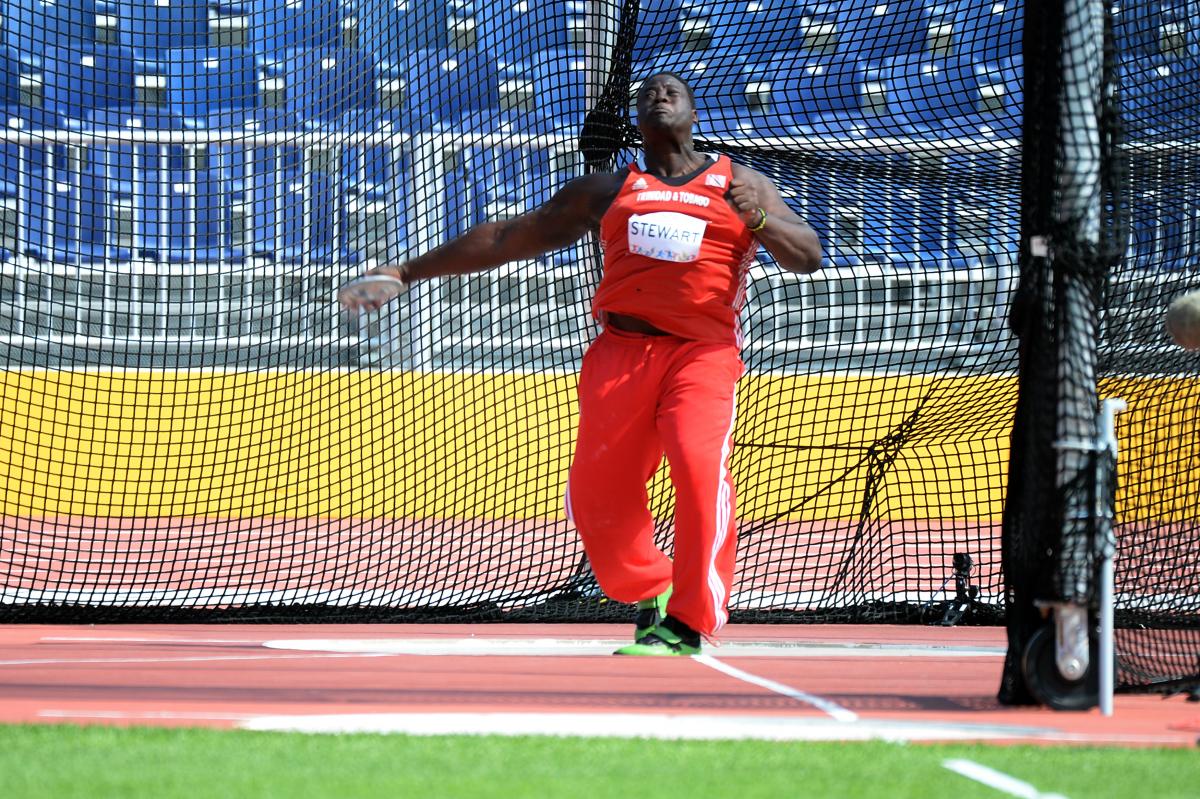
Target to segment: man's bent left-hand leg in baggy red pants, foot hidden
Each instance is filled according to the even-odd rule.
[[[619,602],[671,584],[671,561],[654,543],[646,483],[662,461],[654,425],[658,379],[649,340],[601,334],[580,374],[580,426],[566,486],[575,523],[600,588]]]

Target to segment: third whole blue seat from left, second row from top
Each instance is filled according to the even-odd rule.
[[[287,113],[306,126],[329,126],[347,112],[374,104],[374,66],[359,50],[289,50],[271,73],[284,82]]]

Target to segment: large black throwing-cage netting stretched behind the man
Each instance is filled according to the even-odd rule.
[[[1121,579],[1154,620],[1196,594],[1195,360],[1158,320],[1195,275],[1195,30],[1134,5],[1133,245],[1096,370],[1130,398]],[[623,166],[630,86],[664,68],[700,149],[768,174],[827,253],[751,270],[734,619],[1002,618],[1019,4],[0,6],[4,618],[628,617],[560,510],[594,245],[364,317],[332,293]]]

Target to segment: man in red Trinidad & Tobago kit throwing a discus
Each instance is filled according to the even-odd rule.
[[[698,654],[701,637],[725,624],[745,270],[760,245],[794,272],[815,271],[822,257],[812,228],[766,176],[695,150],[696,121],[686,82],[653,74],[637,94],[637,163],[572,180],[528,214],[373,270],[406,283],[463,275],[599,234],[604,277],[592,312],[601,334],[580,373],[566,511],[604,591],[637,603],[635,643],[622,655]],[[654,543],[646,488],[664,455],[676,492],[673,561]]]

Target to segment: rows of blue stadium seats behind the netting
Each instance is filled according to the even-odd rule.
[[[41,120],[55,126],[572,138],[587,113],[588,73],[574,44],[584,38],[588,10],[576,0],[0,4],[5,22],[16,20],[5,35],[26,36],[23,52],[0,50],[0,103],[20,102],[22,72],[44,73]],[[218,40],[210,13],[246,17],[246,48],[211,46]],[[662,68],[684,74],[697,96],[702,140],[1014,137],[1019,14],[1019,5],[965,0],[944,8],[911,0],[646,0],[638,47],[653,58],[636,62],[634,80]],[[954,19],[958,56],[929,52],[938,19]],[[31,52],[35,28],[43,37],[61,31],[64,46]],[[122,47],[97,43],[109,35]],[[437,47],[420,47],[430,43]],[[1176,120],[1195,120],[1196,109],[1181,103],[1196,65],[1176,56],[1159,48],[1139,61],[1126,100],[1134,120],[1139,103],[1150,102],[1160,127],[1171,116],[1166,106]],[[1123,68],[1132,77],[1133,67]],[[157,95],[144,90],[160,80]],[[26,250],[59,260],[348,262],[367,250],[402,250],[415,210],[403,188],[412,168],[406,151],[341,146],[336,136],[318,149],[252,138],[202,148],[101,144],[55,185],[46,175],[49,166],[67,168],[65,149],[6,146],[0,156],[0,198],[17,196],[18,158],[28,162]],[[565,161],[556,158],[514,143],[464,148],[449,161],[438,206],[444,233],[545,202],[562,184]],[[839,242],[835,259],[952,263],[986,239],[974,206],[953,222],[952,205],[965,198],[900,192],[864,206],[863,186],[845,173],[816,176],[804,199],[815,224]],[[235,235],[239,228],[245,233]]]

